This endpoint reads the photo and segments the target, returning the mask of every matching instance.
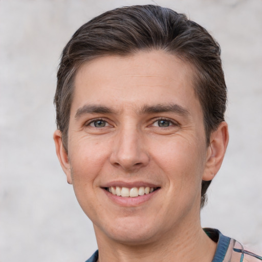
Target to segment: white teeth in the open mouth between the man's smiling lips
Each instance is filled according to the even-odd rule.
[[[126,198],[136,198],[139,197],[140,195],[144,194],[150,194],[160,187],[119,187],[119,186],[111,186],[111,187],[105,187],[104,189],[114,195],[118,195],[119,197],[126,197]]]

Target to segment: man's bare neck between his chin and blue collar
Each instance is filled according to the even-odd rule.
[[[167,232],[161,239],[148,241],[146,244],[127,244],[99,237],[95,227],[99,249],[99,262],[133,262],[151,261],[201,261],[211,262],[215,253],[214,243],[200,225],[187,226],[176,231]]]

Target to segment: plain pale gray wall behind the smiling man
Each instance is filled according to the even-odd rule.
[[[202,212],[262,253],[262,1],[158,0],[220,42],[230,142]],[[65,43],[92,17],[152,1],[0,0],[0,261],[84,261],[92,223],[59,166],[52,134],[56,68]]]

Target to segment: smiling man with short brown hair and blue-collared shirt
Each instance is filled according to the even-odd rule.
[[[200,224],[228,144],[226,97],[219,45],[183,14],[124,7],[76,31],[54,141],[94,225],[88,261],[262,260]]]

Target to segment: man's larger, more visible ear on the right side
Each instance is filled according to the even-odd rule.
[[[207,148],[206,168],[202,180],[212,180],[219,171],[228,145],[228,125],[222,122],[210,135],[210,144]]]

